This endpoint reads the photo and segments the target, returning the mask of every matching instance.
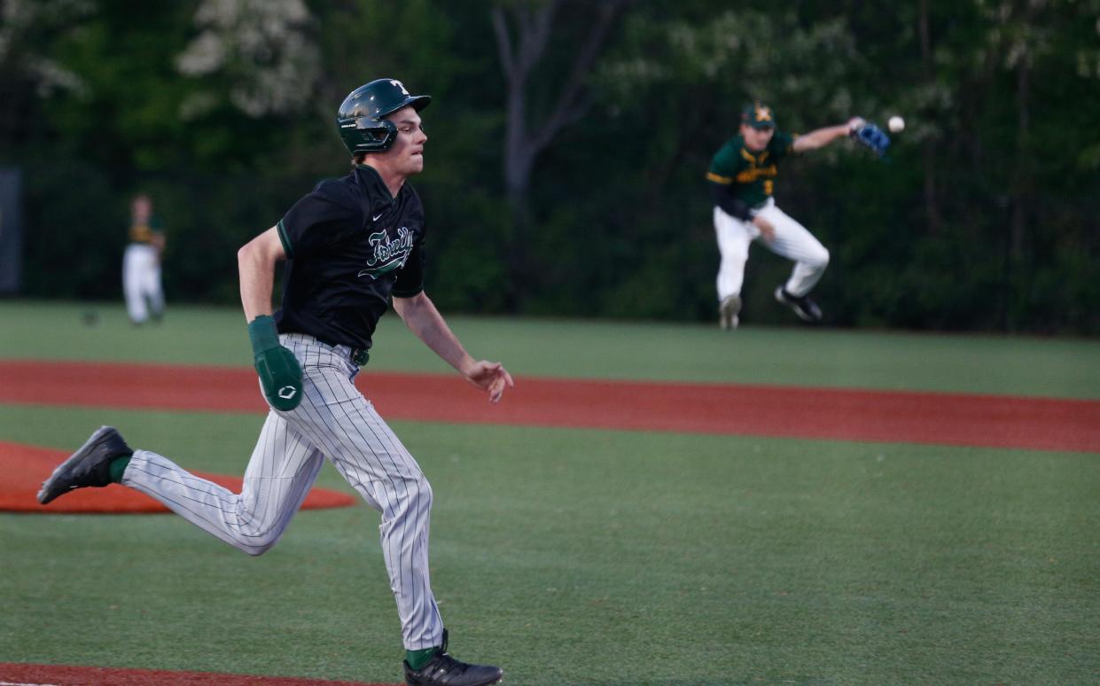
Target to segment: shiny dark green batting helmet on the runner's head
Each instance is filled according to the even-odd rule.
[[[375,79],[348,93],[337,126],[348,152],[382,153],[389,150],[397,139],[397,126],[386,119],[404,107],[419,112],[431,102],[431,96],[410,96],[396,79]]]

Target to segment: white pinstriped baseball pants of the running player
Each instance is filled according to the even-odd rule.
[[[240,494],[139,450],[122,484],[145,493],[230,545],[260,555],[275,545],[326,458],[382,512],[382,551],[397,600],[405,648],[439,645],[443,624],[428,577],[431,486],[352,379],[345,346],[292,333],[283,345],[304,373],[301,405],[272,409],[244,472]]]

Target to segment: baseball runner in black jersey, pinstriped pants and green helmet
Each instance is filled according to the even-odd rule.
[[[498,402],[512,376],[471,357],[424,291],[424,207],[406,180],[424,169],[419,112],[430,97],[378,79],[338,115],[354,167],[321,181],[238,253],[241,301],[271,412],[240,494],[166,457],[131,450],[103,427],[43,484],[45,505],[74,488],[120,483],[148,494],[230,545],[260,555],[301,505],[324,460],[382,513],[382,550],[397,600],[409,685],[482,686],[498,667],[460,662],[428,577],[432,491],[413,455],[352,383],[378,318],[393,301],[424,343]],[[287,259],[283,307],[272,316],[275,266]]]

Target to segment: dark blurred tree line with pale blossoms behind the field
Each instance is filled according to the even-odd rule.
[[[703,176],[751,99],[783,130],[905,117],[787,163],[853,327],[1100,333],[1100,0],[0,0],[0,164],[23,295],[121,298],[129,199],[170,302],[235,302],[235,252],[348,169],[336,110],[429,93],[444,311],[711,320]],[[790,263],[754,246],[746,321]]]

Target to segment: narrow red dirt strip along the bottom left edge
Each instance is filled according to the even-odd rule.
[[[0,686],[384,686],[359,682],[207,672],[164,672],[161,670],[112,670],[68,665],[34,665],[0,662]]]

